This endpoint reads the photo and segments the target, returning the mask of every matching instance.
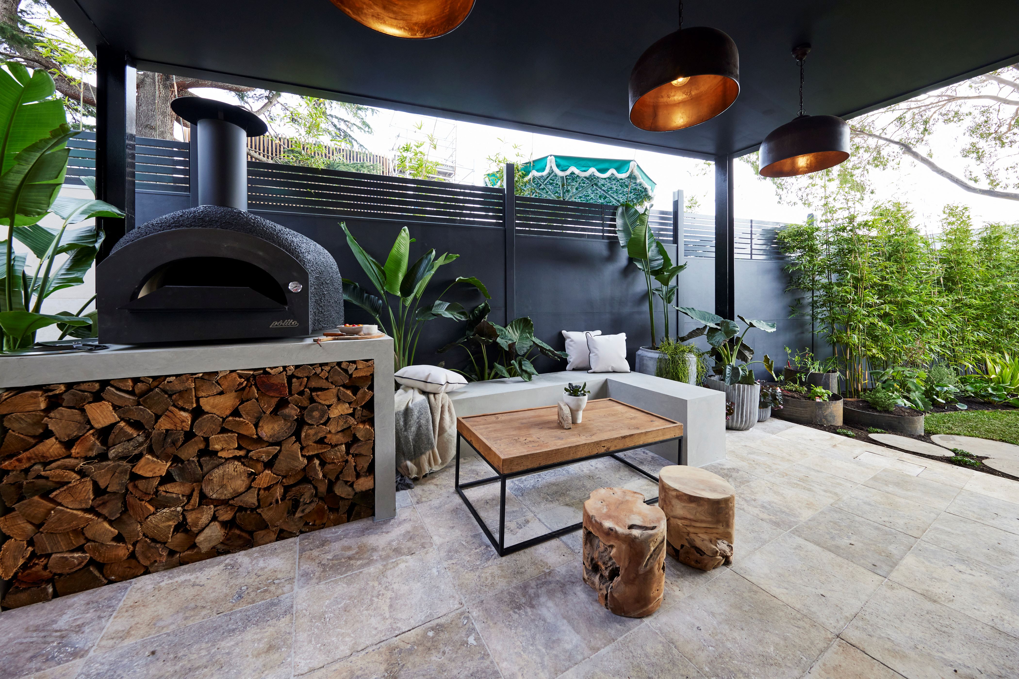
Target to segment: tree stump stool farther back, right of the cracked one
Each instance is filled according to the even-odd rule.
[[[668,522],[671,557],[701,570],[733,563],[736,490],[729,482],[698,467],[662,467],[658,506]]]

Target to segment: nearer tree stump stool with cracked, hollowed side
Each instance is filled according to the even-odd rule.
[[[615,615],[643,618],[665,587],[665,515],[644,496],[600,488],[584,503],[584,581]]]

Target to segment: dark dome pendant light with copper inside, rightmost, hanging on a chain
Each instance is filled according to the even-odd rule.
[[[849,158],[849,124],[834,115],[803,112],[803,60],[810,45],[793,48],[800,64],[800,113],[792,122],[771,130],[758,156],[762,177],[797,177],[826,170]]]

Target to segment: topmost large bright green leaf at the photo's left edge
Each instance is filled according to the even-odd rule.
[[[0,68],[0,174],[13,167],[20,151],[67,122],[63,102],[50,99],[55,87],[49,73],[30,74],[15,62],[6,66]]]

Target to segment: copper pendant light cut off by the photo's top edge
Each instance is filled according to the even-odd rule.
[[[438,38],[467,18],[474,0],[332,0],[369,29],[396,38]]]

